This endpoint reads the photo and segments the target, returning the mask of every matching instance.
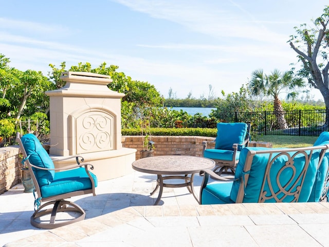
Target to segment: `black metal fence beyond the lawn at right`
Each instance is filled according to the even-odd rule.
[[[264,135],[318,136],[328,131],[328,118],[329,111],[325,109],[220,114],[226,122],[250,122],[251,131]]]

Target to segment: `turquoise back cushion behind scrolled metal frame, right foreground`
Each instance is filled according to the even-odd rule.
[[[262,147],[242,149],[235,170],[235,178],[240,179],[233,182],[231,200],[236,202],[240,183],[243,183],[243,202],[294,202],[297,198],[298,202],[307,202],[315,181],[319,150],[313,151],[308,167],[305,167],[305,156],[302,153],[281,151],[273,153],[271,157],[270,153],[255,154],[250,171],[247,171],[249,178],[246,182],[244,166],[249,150],[276,149]],[[306,151],[306,158],[309,153],[310,151]],[[293,162],[288,162],[290,157]]]

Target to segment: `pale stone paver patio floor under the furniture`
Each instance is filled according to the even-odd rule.
[[[86,219],[53,230],[30,224],[33,195],[13,186],[0,196],[0,246],[329,246],[329,203],[198,205],[187,188],[164,188],[154,206],[155,180],[99,182],[96,197],[71,198]]]

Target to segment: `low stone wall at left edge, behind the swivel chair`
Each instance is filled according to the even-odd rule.
[[[21,183],[19,154],[18,146],[0,148],[0,194]]]

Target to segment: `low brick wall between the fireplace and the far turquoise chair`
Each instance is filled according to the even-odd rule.
[[[202,156],[202,142],[214,140],[214,137],[205,136],[152,136],[155,143],[154,155],[192,155]],[[137,149],[136,160],[140,158],[143,150],[142,136],[122,136],[122,146]]]

